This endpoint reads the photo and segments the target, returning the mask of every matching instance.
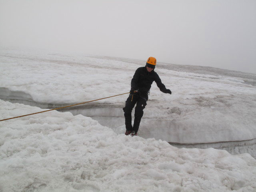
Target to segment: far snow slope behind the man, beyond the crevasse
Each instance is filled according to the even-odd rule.
[[[129,92],[135,70],[145,63],[2,48],[0,98],[48,107],[122,94]],[[172,95],[152,84],[138,132],[143,138],[190,144],[256,138],[256,74],[159,62],[155,71]],[[100,100],[72,113],[91,116],[121,134],[127,97]]]

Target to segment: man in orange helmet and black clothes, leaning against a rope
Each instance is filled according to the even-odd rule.
[[[137,136],[140,120],[143,116],[143,109],[147,104],[146,102],[148,100],[149,90],[153,81],[156,82],[160,91],[172,94],[170,89],[166,89],[164,84],[162,84],[158,74],[154,71],[155,67],[156,58],[150,57],[146,62],[146,66],[138,68],[132,78],[130,95],[125,102],[125,107],[123,108],[126,135],[131,134],[132,136]],[[135,104],[134,124],[132,126],[132,109]]]

